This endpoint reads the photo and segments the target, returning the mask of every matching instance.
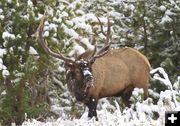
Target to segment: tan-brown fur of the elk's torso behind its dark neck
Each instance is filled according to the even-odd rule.
[[[90,52],[81,55],[88,59]],[[105,56],[96,59],[92,65],[95,77],[94,87],[88,92],[89,97],[99,99],[121,94],[128,106],[133,88],[143,88],[144,98],[148,97],[150,64],[148,59],[133,48],[111,49]]]

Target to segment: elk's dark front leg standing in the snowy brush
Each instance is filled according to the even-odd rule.
[[[96,120],[98,120],[96,112],[97,99],[90,98],[86,105],[89,108],[88,117],[92,118],[93,116],[95,116]]]

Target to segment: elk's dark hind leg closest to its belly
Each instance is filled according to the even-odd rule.
[[[131,97],[131,95],[132,95],[133,89],[134,89],[133,86],[129,86],[129,87],[127,87],[127,88],[123,91],[123,93],[122,93],[122,100],[123,100],[125,106],[127,106],[127,107],[130,107],[130,101],[129,101],[129,99],[130,99],[130,97]]]

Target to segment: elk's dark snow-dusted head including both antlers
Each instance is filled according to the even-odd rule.
[[[44,27],[44,16],[41,19],[40,25],[37,29],[37,38],[39,44],[43,47],[44,51],[51,55],[52,57],[61,59],[64,61],[65,65],[67,66],[67,74],[66,74],[66,80],[68,84],[68,88],[70,92],[72,92],[76,99],[79,101],[85,100],[88,92],[89,87],[93,87],[94,82],[94,76],[92,74],[92,64],[95,62],[97,58],[102,57],[109,51],[109,47],[111,42],[109,42],[110,39],[110,21],[108,18],[108,27],[107,27],[107,33],[103,31],[102,23],[99,18],[97,18],[100,27],[101,32],[106,36],[106,42],[105,45],[97,51],[97,47],[95,46],[94,51],[92,52],[92,55],[88,59],[83,59],[81,56],[79,56],[77,59],[73,60],[69,57],[64,56],[61,53],[53,52],[50,48],[47,46],[47,42],[44,41],[43,38],[43,27]]]

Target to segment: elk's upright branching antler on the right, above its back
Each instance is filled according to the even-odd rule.
[[[100,21],[100,19],[98,17],[97,17],[97,19],[99,21],[102,34],[106,36],[106,42],[105,42],[105,45],[99,51],[97,51],[97,47],[95,46],[95,49],[93,51],[93,55],[90,58],[89,62],[93,62],[96,58],[104,56],[109,51],[109,47],[111,45],[111,42],[109,42],[110,32],[111,32],[111,24],[110,24],[109,17],[108,17],[107,33],[104,32],[102,22]]]

